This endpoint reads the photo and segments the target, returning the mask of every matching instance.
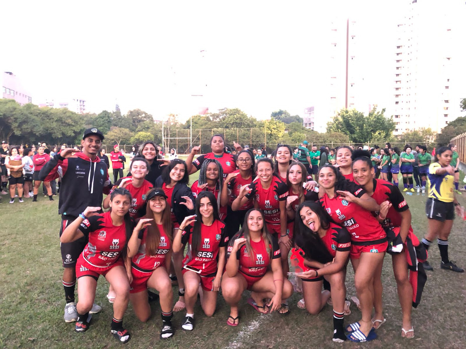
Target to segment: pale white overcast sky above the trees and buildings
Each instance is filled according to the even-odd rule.
[[[351,17],[367,53],[364,75],[380,81],[371,98],[383,107],[407,2],[8,1],[0,67],[36,104],[77,97],[98,113],[118,101],[123,113],[140,108],[158,119],[183,119],[200,105],[259,119],[278,109],[302,115],[328,83],[329,23]]]

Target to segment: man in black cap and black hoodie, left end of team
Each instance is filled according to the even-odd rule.
[[[111,182],[107,165],[97,156],[102,145],[103,134],[96,128],[84,131],[82,152],[65,148],[48,161],[39,173],[41,181],[61,178],[58,213],[62,215],[60,236],[63,230],[74,221],[88,206],[102,206],[103,192],[110,193]],[[72,153],[75,153],[72,155]],[[76,260],[86,246],[85,237],[74,242],[60,244],[63,261],[63,288],[65,290],[65,321],[77,320],[75,306]],[[90,313],[101,308],[94,304]]]

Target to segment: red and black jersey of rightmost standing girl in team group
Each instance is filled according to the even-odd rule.
[[[387,200],[391,202],[391,208],[388,209],[387,217],[382,222],[382,226],[384,228],[400,227],[401,215],[399,213],[409,209],[400,189],[383,179],[374,179],[373,181],[374,194],[372,194],[372,198],[379,205]]]

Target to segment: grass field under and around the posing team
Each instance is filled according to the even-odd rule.
[[[126,173],[126,171],[125,171]],[[195,178],[191,178],[191,183]],[[466,196],[466,195],[465,195]],[[413,214],[413,228],[422,237],[427,227],[424,214],[426,196],[406,195]],[[459,197],[465,204],[466,198]],[[112,307],[105,295],[108,284],[100,278],[96,303],[102,305],[94,315],[85,334],[77,334],[74,324],[63,321],[64,295],[62,267],[58,240],[60,216],[58,198],[48,201],[39,196],[39,202],[25,199],[20,204],[8,204],[7,197],[0,203],[0,347],[1,348],[113,348],[119,346],[110,335]],[[465,222],[456,219],[450,236],[450,257],[460,267],[466,267],[462,246],[466,244]],[[217,310],[212,318],[196,307],[193,332],[181,330],[184,312],[174,316],[175,336],[168,341],[159,339],[160,307],[151,304],[152,318],[141,323],[131,306],[124,322],[132,339],[126,348],[465,348],[464,311],[466,304],[466,274],[457,274],[439,268],[437,246],[430,249],[429,261],[434,267],[418,309],[413,309],[416,337],[401,338],[401,310],[396,283],[391,270],[390,256],[385,257],[384,316],[387,322],[377,330],[378,339],[365,345],[345,342],[333,343],[331,335],[332,308],[325,306],[319,315],[308,315],[298,309],[301,295],[289,299],[291,313],[260,315],[246,304],[247,293],[241,302],[240,325],[226,325],[229,308],[219,293]],[[348,296],[355,295],[353,272],[348,268]],[[174,288],[177,292],[177,288]],[[176,299],[176,297],[175,297]],[[360,312],[354,304],[345,323],[359,320]]]

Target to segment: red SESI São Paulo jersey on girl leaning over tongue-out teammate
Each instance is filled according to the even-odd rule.
[[[366,191],[354,182],[349,182],[346,190],[358,198],[366,194]],[[375,241],[387,236],[372,213],[358,204],[343,200],[339,195],[329,199],[327,194],[320,198],[320,202],[333,221],[348,229],[351,241]]]

